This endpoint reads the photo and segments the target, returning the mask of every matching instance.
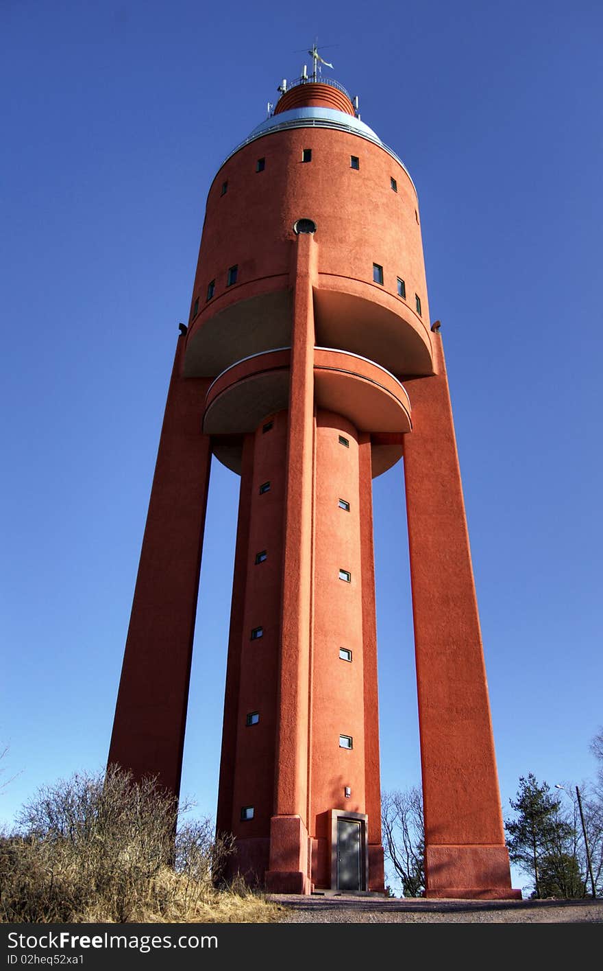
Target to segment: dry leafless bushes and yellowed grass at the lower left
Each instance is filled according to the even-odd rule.
[[[153,780],[77,775],[40,790],[17,821],[0,838],[0,921],[280,920],[242,883],[216,889],[232,837],[215,839],[209,820],[183,822]]]

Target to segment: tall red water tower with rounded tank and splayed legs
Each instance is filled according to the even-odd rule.
[[[517,896],[417,192],[341,85],[279,90],[209,189],[110,762],[178,792],[214,454],[240,476],[217,828],[272,891],[383,890],[371,479],[403,456],[426,894]]]

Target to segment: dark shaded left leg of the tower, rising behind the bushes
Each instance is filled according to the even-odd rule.
[[[109,764],[157,776],[177,796],[211,450],[201,432],[208,382],[175,364],[146,518]]]

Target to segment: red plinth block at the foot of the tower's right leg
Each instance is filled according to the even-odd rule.
[[[430,846],[425,851],[426,897],[521,900],[511,887],[504,846]]]

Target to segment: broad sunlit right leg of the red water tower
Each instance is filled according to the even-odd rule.
[[[426,896],[521,897],[511,888],[459,460],[444,355],[405,382],[404,476],[425,810]]]

